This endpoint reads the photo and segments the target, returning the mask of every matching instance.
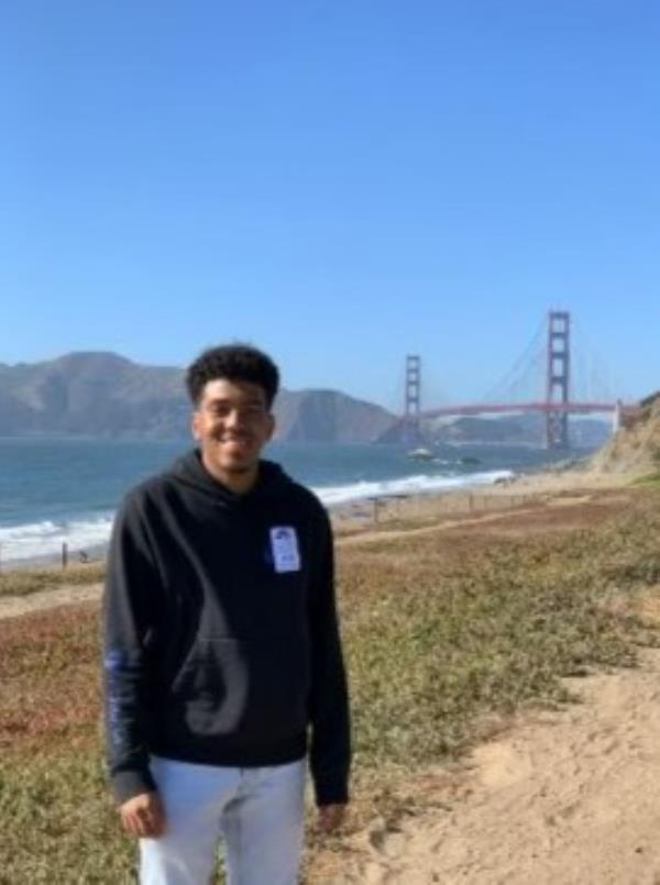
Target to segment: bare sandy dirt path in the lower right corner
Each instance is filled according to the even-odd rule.
[[[569,685],[582,704],[480,746],[449,810],[372,828],[331,881],[659,885],[660,651]]]

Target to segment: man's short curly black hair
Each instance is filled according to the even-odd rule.
[[[268,409],[279,389],[279,369],[271,357],[240,342],[209,347],[188,366],[186,388],[195,406],[199,403],[206,384],[218,378],[258,385],[266,396]]]

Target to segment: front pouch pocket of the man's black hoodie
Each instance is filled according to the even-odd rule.
[[[307,642],[264,635],[198,640],[170,697],[189,735],[258,745],[306,727],[308,693]]]

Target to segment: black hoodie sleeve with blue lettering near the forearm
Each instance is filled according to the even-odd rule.
[[[157,587],[139,508],[128,498],[112,530],[102,608],[106,746],[120,804],[155,789],[148,770],[146,701]]]

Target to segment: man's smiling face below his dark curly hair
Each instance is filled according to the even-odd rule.
[[[264,390],[250,381],[208,381],[193,412],[202,461],[220,479],[252,473],[274,428]]]

